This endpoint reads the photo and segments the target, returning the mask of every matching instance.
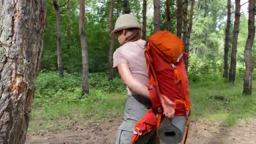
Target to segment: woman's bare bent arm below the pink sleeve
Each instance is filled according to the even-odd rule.
[[[141,94],[149,98],[149,91],[147,89],[147,86],[143,85],[142,83],[133,78],[127,63],[119,64],[117,68],[124,83],[128,86],[128,88],[131,88],[131,90],[135,93]]]

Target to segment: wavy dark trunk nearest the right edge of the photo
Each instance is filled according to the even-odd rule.
[[[249,19],[248,19],[248,37],[245,44],[245,78],[243,83],[243,94],[251,95],[252,90],[252,73],[253,73],[253,62],[252,62],[252,47],[255,36],[255,0],[249,0]]]

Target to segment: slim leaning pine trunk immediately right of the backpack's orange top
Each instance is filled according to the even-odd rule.
[[[193,26],[193,15],[194,15],[194,5],[195,5],[195,0],[191,0],[191,5],[190,5],[190,16],[189,16],[189,28],[187,32],[187,41],[185,43],[185,51],[189,51],[189,45],[190,45],[190,36],[192,33],[192,26]],[[189,67],[189,59],[188,57],[185,57],[185,64],[186,64],[186,69]]]

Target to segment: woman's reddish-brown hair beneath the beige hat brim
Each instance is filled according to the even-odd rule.
[[[125,41],[122,43],[122,45],[128,42],[134,42],[141,39],[141,29],[130,28],[130,29],[124,29],[124,30],[125,32],[127,31],[131,32],[131,35],[125,38]],[[122,32],[123,30],[120,30],[119,32],[117,32],[117,35],[120,35]]]

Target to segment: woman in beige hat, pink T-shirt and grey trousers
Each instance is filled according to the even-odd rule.
[[[130,144],[136,123],[152,107],[147,89],[147,64],[144,56],[146,41],[141,40],[141,25],[131,14],[120,16],[111,33],[120,47],[113,54],[113,67],[117,67],[127,86],[123,123],[118,128],[115,144]],[[156,144],[156,131],[140,136],[137,144]]]

